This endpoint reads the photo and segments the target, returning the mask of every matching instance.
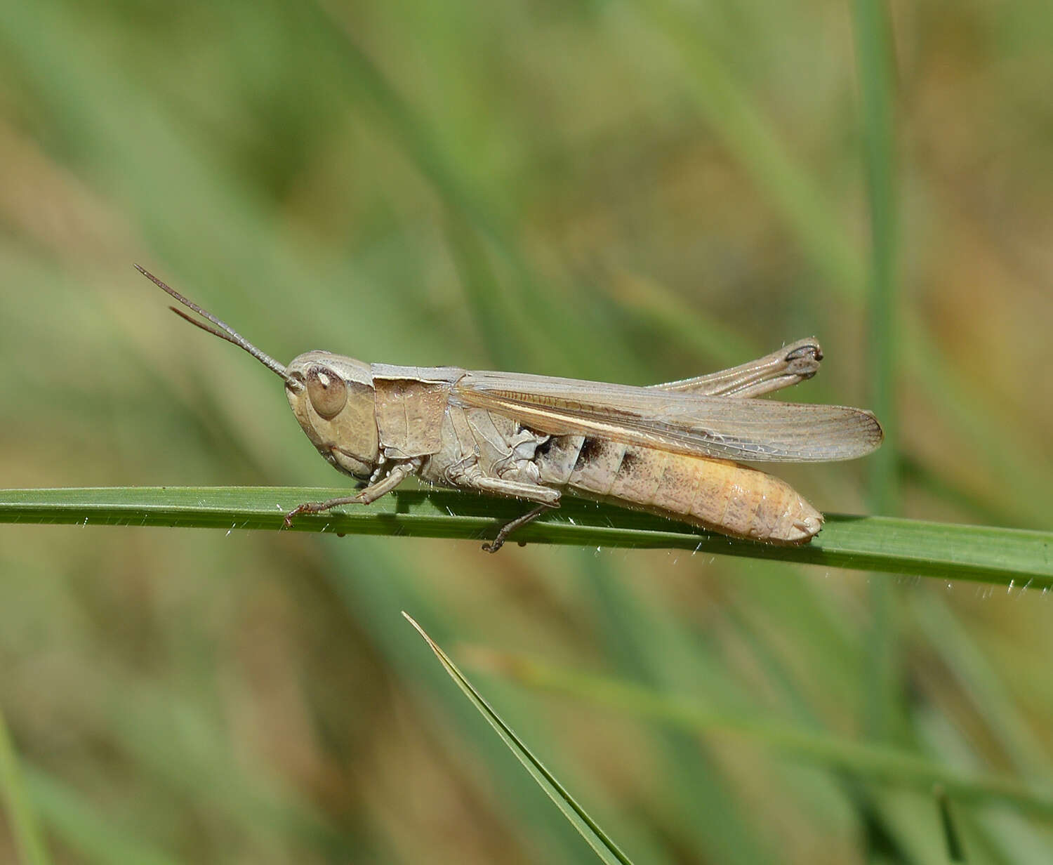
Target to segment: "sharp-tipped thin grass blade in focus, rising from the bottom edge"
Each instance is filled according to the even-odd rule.
[[[420,627],[414,620],[406,614],[402,613],[406,617],[406,621],[417,629],[417,632],[424,638],[429,647],[435,652],[435,656],[439,658],[439,663],[445,668],[446,672],[450,673],[450,677],[457,683],[459,687],[472,701],[472,704],[482,713],[482,716],[486,719],[501,738],[505,745],[509,746],[516,759],[522,763],[523,767],[530,772],[537,785],[544,790],[545,794],[551,799],[556,807],[562,811],[563,817],[574,826],[575,829],[581,834],[590,847],[596,851],[596,854],[603,861],[616,865],[616,863],[621,863],[621,865],[629,865],[630,859],[618,849],[618,845],[615,844],[610,837],[604,832],[596,822],[589,817],[585,810],[574,801],[572,797],[563,786],[556,780],[556,778],[550,772],[544,765],[539,761],[534,754],[530,752],[530,749],[519,740],[511,727],[505,724],[500,715],[494,711],[493,707],[486,703],[474,687],[472,683],[469,682],[464,674],[457,669],[453,661],[450,660],[449,655],[442,649],[440,649],[434,641],[424,633],[424,629]]]

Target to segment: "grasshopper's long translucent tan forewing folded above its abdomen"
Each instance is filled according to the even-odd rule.
[[[517,373],[470,372],[454,385],[452,398],[550,435],[594,436],[721,459],[855,459],[873,451],[882,436],[877,418],[863,409]]]

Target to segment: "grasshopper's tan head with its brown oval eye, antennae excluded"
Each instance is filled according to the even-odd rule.
[[[340,471],[367,479],[380,459],[370,365],[329,352],[307,352],[287,367],[285,396],[303,432]]]

